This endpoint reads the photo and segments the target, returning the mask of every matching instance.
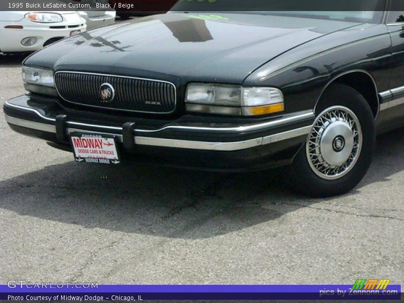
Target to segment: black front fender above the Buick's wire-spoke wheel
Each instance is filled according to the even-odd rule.
[[[313,110],[338,75],[363,70],[378,91],[389,88],[391,39],[386,25],[362,24],[300,45],[251,73],[245,86],[273,86],[285,96],[285,112]]]

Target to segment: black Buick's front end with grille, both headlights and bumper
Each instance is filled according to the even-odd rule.
[[[27,94],[4,105],[12,129],[66,150],[83,134],[114,138],[119,162],[261,170],[290,163],[314,120],[312,111],[285,113],[275,87],[33,66],[23,67],[23,79]]]

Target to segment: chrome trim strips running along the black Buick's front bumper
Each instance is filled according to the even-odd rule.
[[[15,117],[11,115],[5,115],[6,121],[11,125],[16,125],[28,129],[38,130],[46,133],[57,134],[57,119],[49,118],[40,113],[39,110],[15,105],[6,102],[5,108],[11,107],[14,109],[21,110],[23,112],[31,112],[37,116],[37,120],[32,121],[22,117]],[[245,132],[263,132],[267,129],[277,129],[285,125],[293,125],[302,121],[314,120],[313,112],[303,112],[288,117],[283,117],[277,120],[271,120],[262,123],[250,124],[245,126],[236,127],[200,127],[200,126],[188,126],[188,125],[167,125],[160,129],[146,130],[146,129],[133,129],[133,140],[136,145],[146,145],[146,146],[159,146],[159,147],[170,147],[170,148],[184,148],[184,149],[198,149],[198,150],[216,150],[216,151],[237,151],[248,148],[254,148],[262,145],[272,144],[276,142],[285,141],[288,139],[293,139],[297,137],[306,136],[309,134],[312,125],[301,126],[285,131],[280,131],[272,133],[270,135],[260,135],[251,139],[241,140],[241,141],[209,141],[209,140],[184,140],[176,138],[162,138],[158,137],[159,133],[167,130],[181,131],[190,133],[207,132],[211,134],[220,133],[245,133]],[[72,120],[67,120],[65,122],[65,135],[69,135],[73,132],[82,133],[98,133],[98,134],[108,134],[116,136],[117,140],[121,143],[124,142],[124,129],[123,127],[99,125],[99,124],[88,124],[82,122],[76,122]],[[308,124],[308,123],[306,123]]]

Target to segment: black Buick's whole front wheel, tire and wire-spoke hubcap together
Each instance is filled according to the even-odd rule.
[[[289,186],[328,197],[348,192],[368,171],[375,146],[374,116],[366,99],[343,84],[328,88],[304,146],[289,168]]]

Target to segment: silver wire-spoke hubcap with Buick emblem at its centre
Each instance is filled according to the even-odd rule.
[[[316,119],[306,143],[312,170],[326,180],[339,179],[354,168],[362,149],[362,129],[354,112],[331,107]]]

